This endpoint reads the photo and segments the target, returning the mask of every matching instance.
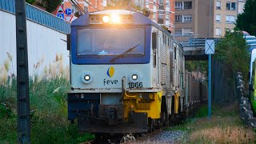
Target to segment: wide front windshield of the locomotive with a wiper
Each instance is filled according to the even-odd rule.
[[[78,55],[142,55],[144,35],[144,28],[81,29],[78,30]]]

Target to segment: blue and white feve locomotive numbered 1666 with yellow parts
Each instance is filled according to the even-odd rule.
[[[68,118],[78,130],[143,133],[185,111],[182,46],[143,14],[84,14],[70,38]]]

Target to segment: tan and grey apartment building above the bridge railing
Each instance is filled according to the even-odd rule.
[[[233,30],[238,16],[238,0],[175,0],[174,35],[221,38]]]

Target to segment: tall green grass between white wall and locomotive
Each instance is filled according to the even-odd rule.
[[[79,134],[76,124],[67,121],[64,78],[30,80],[31,143],[81,143],[94,134]],[[2,103],[2,104],[1,104]],[[0,143],[17,143],[16,80],[0,86]]]

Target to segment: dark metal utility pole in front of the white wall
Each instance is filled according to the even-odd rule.
[[[15,1],[18,143],[30,143],[30,95],[25,0]]]

